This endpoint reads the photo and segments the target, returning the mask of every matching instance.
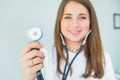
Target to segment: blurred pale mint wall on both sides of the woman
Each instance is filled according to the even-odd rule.
[[[61,0],[0,0],[0,80],[21,80],[20,53],[29,40],[31,26],[43,30],[40,42],[53,44],[56,14]],[[120,75],[120,29],[113,14],[120,14],[120,0],[91,0],[97,14],[104,51],[110,54],[114,72]],[[117,80],[117,78],[116,78]],[[118,79],[119,80],[119,79]]]

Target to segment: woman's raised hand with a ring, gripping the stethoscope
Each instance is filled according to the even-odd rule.
[[[35,80],[37,71],[44,67],[44,54],[33,48],[40,49],[42,45],[38,42],[28,43],[20,56],[23,80]]]

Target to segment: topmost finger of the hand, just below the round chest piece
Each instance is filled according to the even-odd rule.
[[[40,43],[38,43],[38,42],[28,43],[25,46],[25,48],[23,49],[21,56],[24,56],[26,53],[28,53],[29,51],[31,51],[31,49],[33,49],[33,48],[42,48],[42,47],[43,46]]]

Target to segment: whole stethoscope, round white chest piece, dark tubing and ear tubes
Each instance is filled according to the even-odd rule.
[[[61,39],[62,39],[62,43],[64,45],[65,52],[67,53],[66,63],[65,63],[65,67],[64,67],[62,80],[66,80],[67,79],[67,76],[68,76],[68,73],[70,71],[71,65],[74,62],[74,60],[76,59],[76,57],[78,56],[78,54],[82,51],[82,49],[83,49],[83,47],[84,47],[84,45],[86,43],[86,40],[87,40],[89,34],[91,33],[91,31],[92,31],[91,29],[88,31],[87,35],[85,36],[85,38],[84,38],[84,40],[83,40],[83,42],[82,42],[82,44],[80,46],[79,51],[73,57],[73,59],[72,59],[72,61],[70,62],[69,65],[68,65],[68,49],[67,49],[65,41],[63,39],[63,36],[60,34]],[[33,41],[38,41],[42,37],[42,30],[40,28],[38,28],[38,27],[33,27],[29,31],[27,31],[27,36],[28,36],[28,38],[30,38]],[[33,48],[33,49],[36,49],[36,48]],[[39,49],[37,49],[37,50],[39,50]],[[67,68],[67,65],[68,65],[68,68]],[[41,70],[37,71],[37,80],[44,80]]]

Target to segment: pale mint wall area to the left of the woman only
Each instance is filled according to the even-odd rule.
[[[21,80],[20,52],[32,25],[43,29],[41,42],[53,43],[59,0],[0,0],[0,80]]]

